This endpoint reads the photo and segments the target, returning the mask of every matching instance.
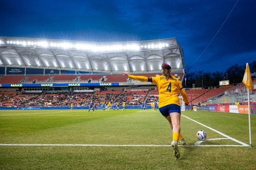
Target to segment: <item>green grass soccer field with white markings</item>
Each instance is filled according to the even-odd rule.
[[[239,143],[249,144],[248,115],[182,115],[187,145],[179,147],[176,160],[169,146],[172,132],[159,111],[1,110],[0,169],[256,169],[255,147]],[[209,140],[195,146],[198,130]],[[255,145],[254,115],[251,132]]]

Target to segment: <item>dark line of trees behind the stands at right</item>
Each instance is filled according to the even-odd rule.
[[[256,61],[248,63],[251,73],[256,71]],[[187,72],[185,70],[185,81],[183,81],[183,87],[193,88],[195,87],[215,87],[219,86],[219,81],[229,80],[229,84],[241,83],[244,76],[245,65],[234,64],[228,67],[225,71],[216,72]],[[193,85],[194,84],[194,85]]]

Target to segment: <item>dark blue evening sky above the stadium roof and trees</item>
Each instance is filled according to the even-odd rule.
[[[82,41],[176,37],[189,71],[224,71],[256,60],[255,9],[254,0],[1,0],[0,36]]]

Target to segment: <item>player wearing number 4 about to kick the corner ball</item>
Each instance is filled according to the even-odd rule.
[[[174,155],[178,159],[180,153],[178,150],[178,141],[180,139],[181,144],[185,144],[185,140],[180,133],[180,101],[179,93],[181,93],[185,105],[188,105],[187,95],[182,87],[179,79],[171,75],[172,68],[166,64],[162,64],[162,74],[156,77],[145,77],[145,76],[132,76],[128,72],[123,72],[127,78],[133,80],[139,80],[144,82],[152,82],[158,87],[159,92],[159,111],[168,120],[170,128],[173,130],[173,141],[172,148],[174,150]]]

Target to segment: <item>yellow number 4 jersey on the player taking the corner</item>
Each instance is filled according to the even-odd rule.
[[[132,76],[127,75],[128,78],[140,81],[148,81],[145,76]],[[176,104],[180,106],[179,93],[183,97],[183,101],[188,104],[187,95],[182,87],[179,79],[172,76],[172,79],[166,79],[165,76],[152,77],[152,84],[155,84],[159,92],[159,108],[170,104]]]

